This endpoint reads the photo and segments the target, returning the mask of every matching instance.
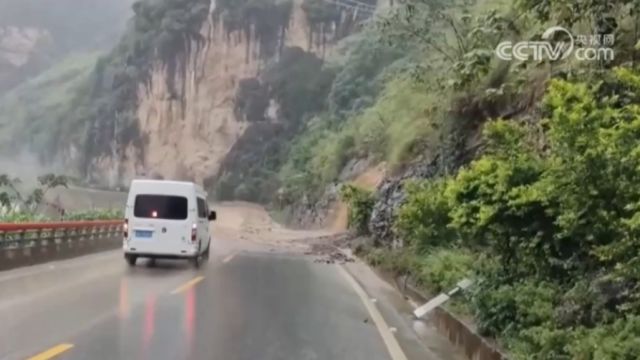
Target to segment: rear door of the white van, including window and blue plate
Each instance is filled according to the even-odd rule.
[[[139,194],[134,201],[132,239],[138,251],[178,254],[190,240],[185,196]]]

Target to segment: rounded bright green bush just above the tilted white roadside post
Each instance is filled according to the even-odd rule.
[[[555,274],[551,259],[570,256],[545,246],[554,223],[546,212],[548,198],[538,182],[543,165],[530,154],[514,158],[487,155],[461,171],[447,189],[451,226],[468,246],[489,247],[506,272]],[[561,250],[561,249],[559,249]]]

